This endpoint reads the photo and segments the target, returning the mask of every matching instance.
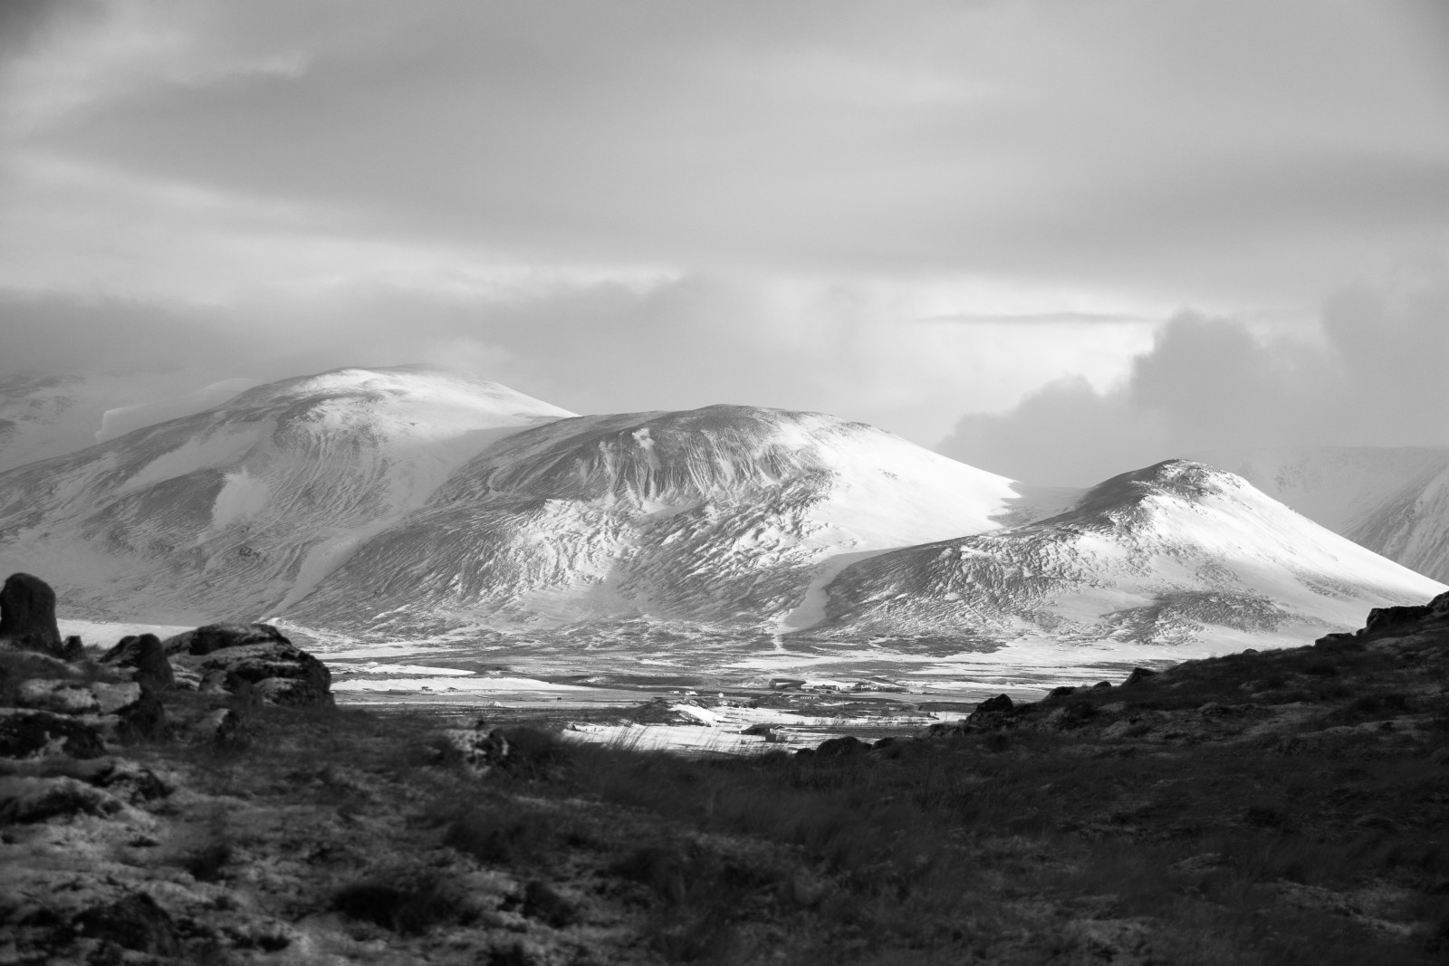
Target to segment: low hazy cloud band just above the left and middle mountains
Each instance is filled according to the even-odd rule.
[[[138,382],[104,407],[145,403],[109,417],[130,429],[146,414],[196,406],[225,379],[432,362],[574,411],[774,406],[926,445],[962,406],[1001,407],[1068,371],[1104,384],[1151,337],[1135,323],[901,324],[949,297],[698,274],[343,285],[307,298],[258,290],[235,306],[0,290],[0,375],[106,372]],[[974,375],[964,379],[964,369]]]

